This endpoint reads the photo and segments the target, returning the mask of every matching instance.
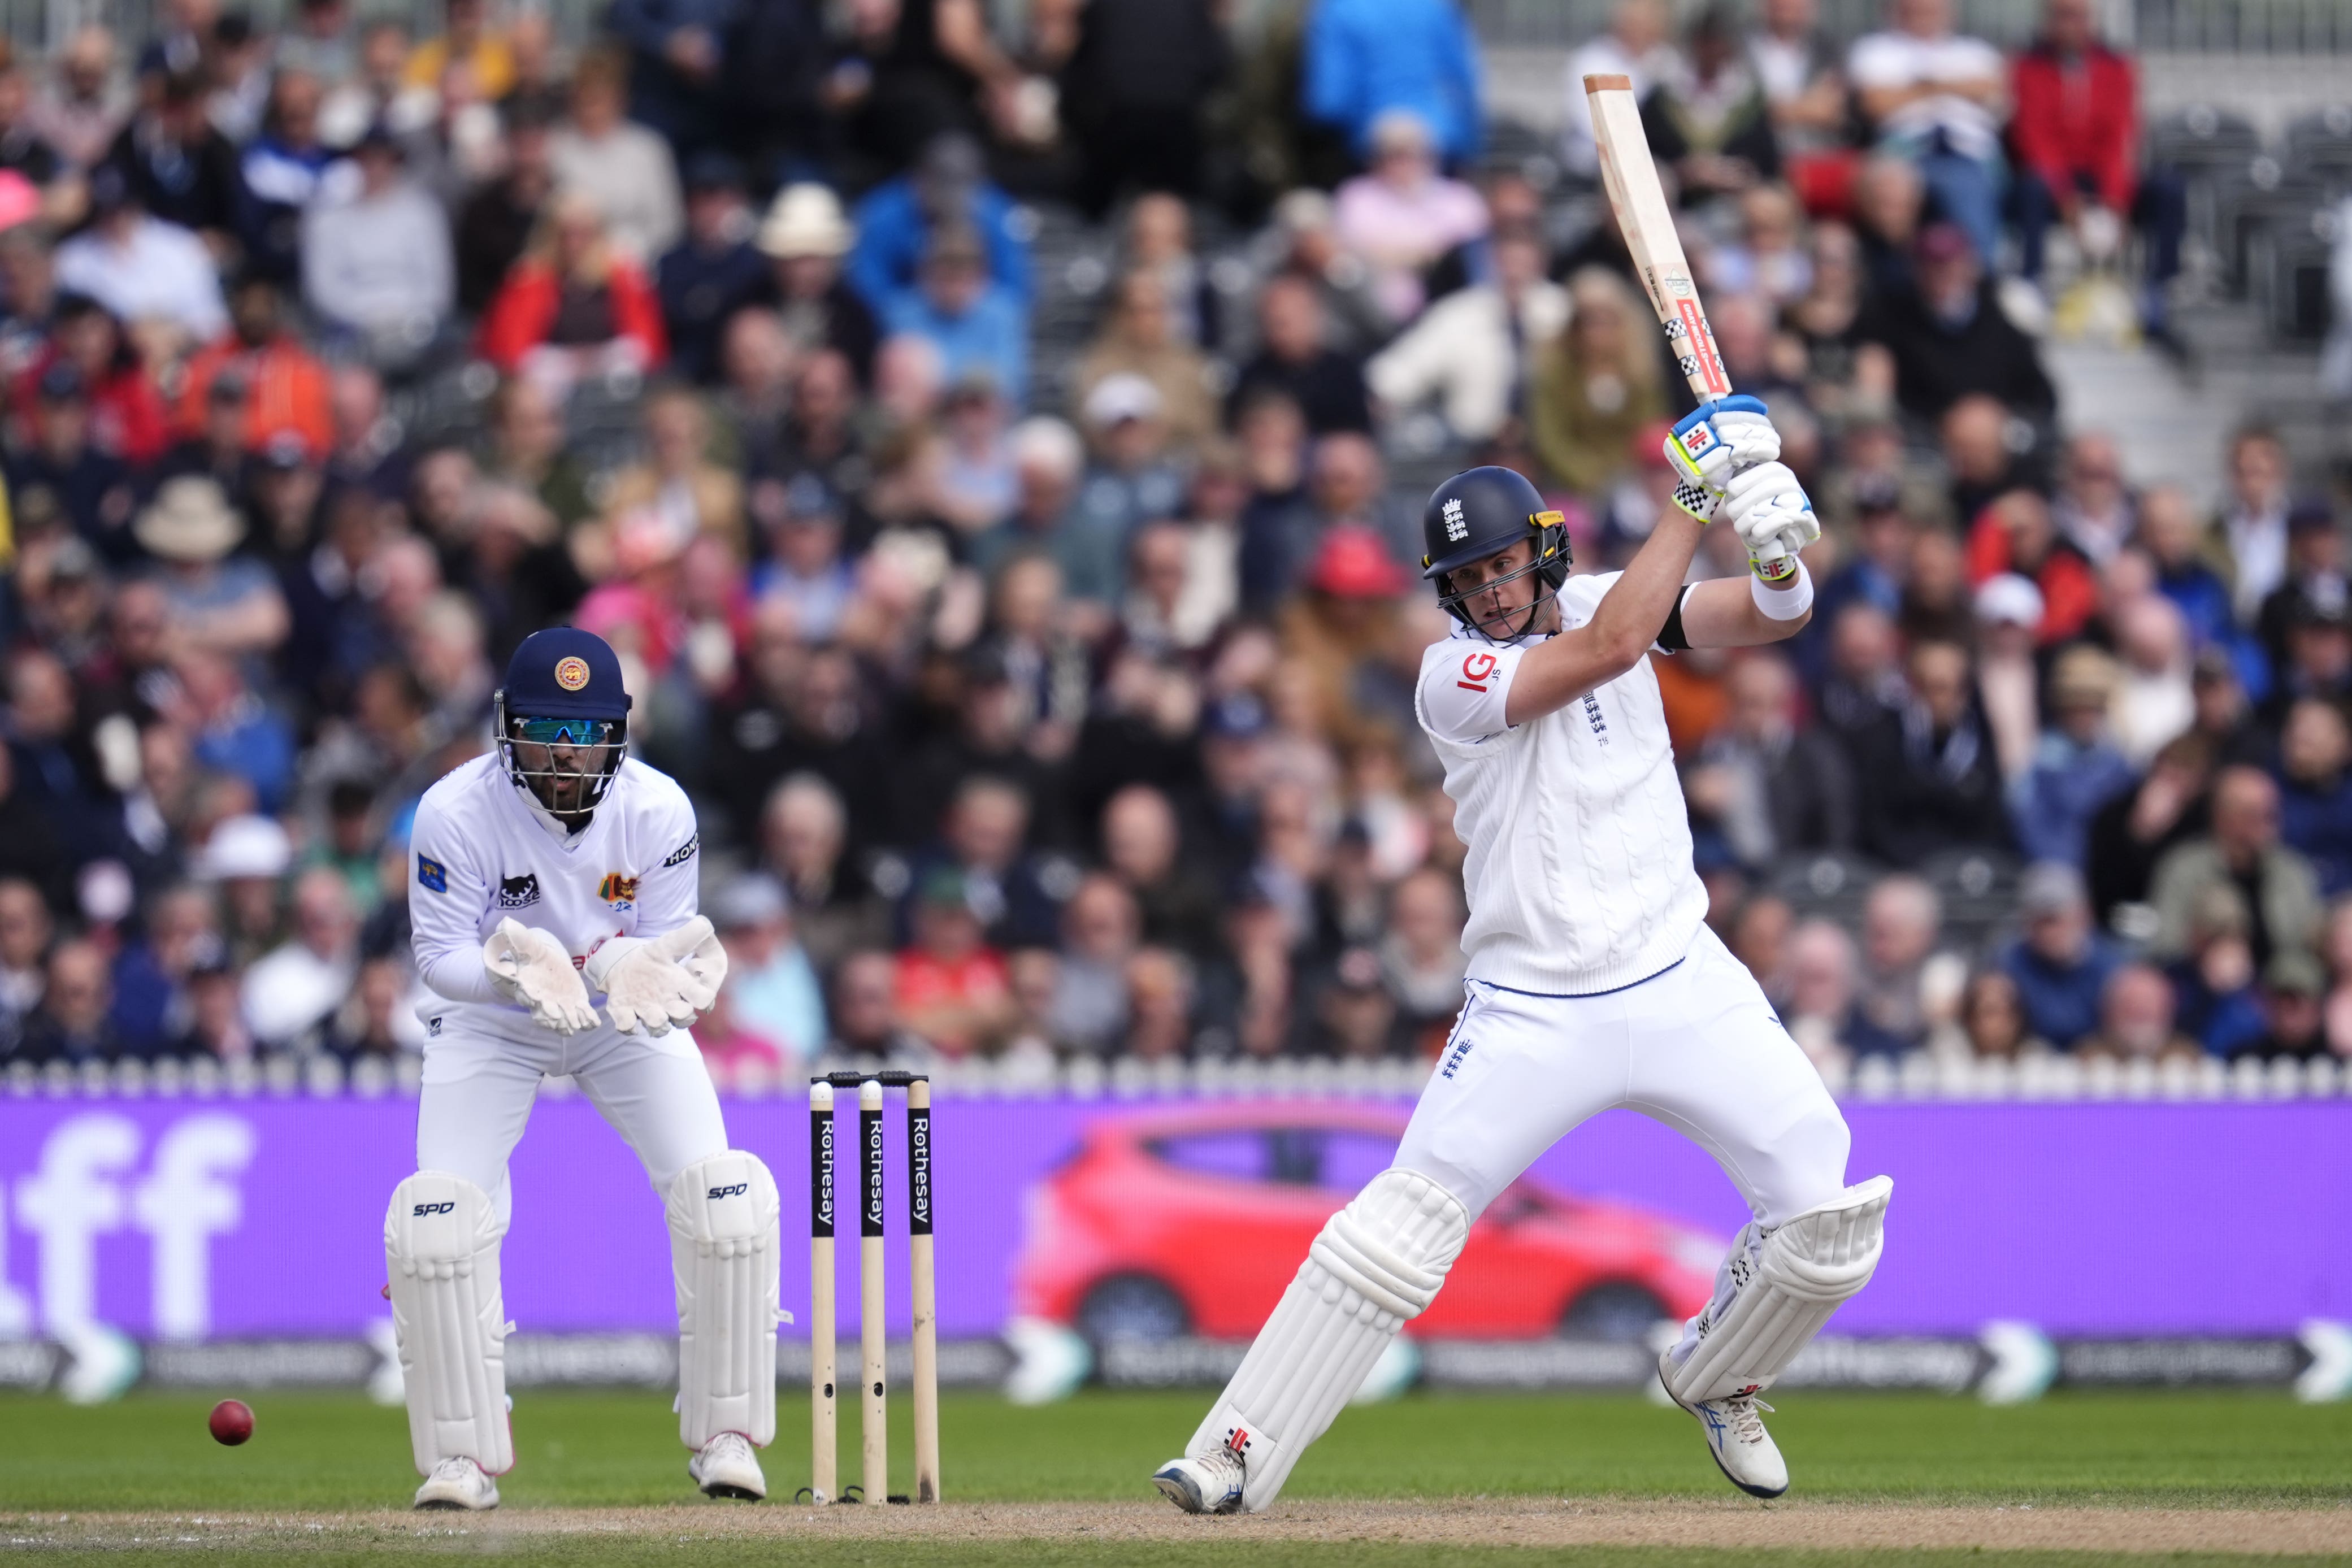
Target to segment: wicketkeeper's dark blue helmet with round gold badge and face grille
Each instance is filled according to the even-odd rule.
[[[506,776],[557,816],[595,811],[628,755],[628,710],[609,642],[572,625],[532,632],[492,698]]]

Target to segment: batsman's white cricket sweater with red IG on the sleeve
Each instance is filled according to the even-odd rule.
[[[1592,618],[1616,571],[1559,590],[1564,628]],[[1543,639],[1458,628],[1421,656],[1414,710],[1446,764],[1470,978],[1592,994],[1677,964],[1708,914],[1691,823],[1649,661],[1512,729],[1503,703]]]

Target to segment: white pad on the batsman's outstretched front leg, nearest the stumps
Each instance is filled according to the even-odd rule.
[[[1282,1490],[1397,1331],[1435,1300],[1470,1239],[1470,1211],[1418,1171],[1383,1171],[1315,1237],[1242,1368],[1185,1453],[1242,1450],[1242,1507]]]

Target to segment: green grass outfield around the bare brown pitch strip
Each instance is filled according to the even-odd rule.
[[[221,1448],[205,1432],[212,1394],[134,1394],[75,1408],[54,1399],[0,1396],[0,1559],[59,1552],[38,1535],[42,1516],[89,1512],[285,1514],[381,1512],[416,1483],[400,1410],[348,1394],[252,1396],[254,1441]],[[950,1394],[941,1403],[946,1495],[960,1502],[1124,1502],[1150,1497],[1148,1472],[1200,1418],[1204,1394],[1087,1394],[1047,1408]],[[807,1481],[807,1406],[779,1401],[781,1434],[764,1455],[779,1497]],[[2324,1509],[2352,1512],[2352,1406],[2298,1406],[2281,1394],[2060,1394],[2032,1406],[1987,1408],[1912,1394],[1790,1392],[1771,1420],[1795,1474],[1792,1500],[1940,1507],[2100,1509]],[[910,1479],[903,1403],[891,1422],[894,1486]],[[856,1415],[842,1413],[842,1479],[856,1476]],[[882,1540],[748,1542],[694,1540],[706,1516],[684,1479],[684,1450],[668,1399],[652,1392],[522,1392],[515,1396],[517,1467],[501,1481],[508,1514],[553,1507],[668,1507],[668,1528],[597,1540],[506,1540],[501,1563],[701,1563],[701,1561],[910,1561]],[[1698,1427],[1642,1399],[1428,1394],[1350,1410],[1301,1462],[1287,1497],[1616,1497],[1722,1500],[1729,1488]],[[774,1507],[774,1505],[771,1505]],[[637,1516],[642,1519],[642,1516]],[[668,1514],[666,1514],[668,1519]],[[1214,1526],[1211,1526],[1214,1528]],[[2347,1526],[2352,1533],[2352,1526]],[[158,1556],[167,1540],[111,1540],[106,1556]],[[191,1547],[179,1544],[181,1552]],[[202,1561],[376,1563],[463,1552],[449,1540],[346,1540],[287,1547],[212,1547]],[[814,1556],[804,1556],[814,1552]],[[1388,1563],[1501,1566],[1545,1559],[1494,1544],[1381,1542],[943,1542],[936,1563]],[[1689,1561],[1682,1549],[1576,1549],[1573,1561],[1635,1566]],[[1743,1552],[1762,1568],[1797,1563],[1957,1563],[1971,1552]],[[2114,1552],[1997,1552],[2004,1568],[2093,1563],[2352,1561],[2230,1559]],[[1745,1563],[1743,1563],[1745,1568]]]

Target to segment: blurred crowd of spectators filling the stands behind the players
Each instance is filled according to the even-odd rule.
[[[2013,56],[1628,0],[1512,153],[1449,0],[600,24],[0,59],[0,1065],[416,1051],[407,825],[560,621],[699,804],[722,1081],[1435,1053],[1421,496],[1522,468],[1609,569],[1689,407],[1588,71],[1828,524],[1797,642],[1656,661],[1799,1041],[2352,1051],[2336,510],[2263,430],[2143,491],[2042,369],[2046,254],[2159,343],[2178,270],[2089,0]]]

